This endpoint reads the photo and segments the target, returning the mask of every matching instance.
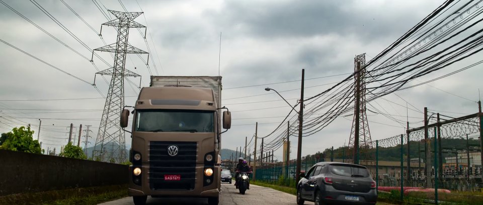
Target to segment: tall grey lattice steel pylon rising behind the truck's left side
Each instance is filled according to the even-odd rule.
[[[109,12],[114,14],[117,19],[102,25],[117,27],[117,42],[94,49],[97,51],[114,52],[115,56],[113,67],[96,73],[110,75],[112,78],[102,113],[93,157],[95,160],[120,163],[124,162],[126,158],[124,131],[119,124],[121,111],[124,108],[124,77],[140,77],[140,75],[124,68],[126,54],[147,52],[128,44],[129,28],[145,27],[134,21],[142,12],[117,12],[111,10]]]

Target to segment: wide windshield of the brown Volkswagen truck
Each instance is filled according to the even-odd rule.
[[[137,110],[136,131],[214,132],[214,112],[200,110]]]

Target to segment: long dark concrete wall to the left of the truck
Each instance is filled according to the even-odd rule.
[[[0,150],[0,195],[126,184],[126,165]]]

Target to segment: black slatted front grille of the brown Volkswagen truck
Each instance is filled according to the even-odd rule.
[[[175,156],[168,148],[178,147]],[[149,186],[151,190],[193,190],[196,180],[196,142],[149,142]],[[166,181],[165,175],[181,175],[179,181]]]

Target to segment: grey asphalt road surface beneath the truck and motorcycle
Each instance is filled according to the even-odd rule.
[[[102,205],[132,205],[132,197],[125,197],[105,203]],[[146,204],[193,204],[193,205],[207,205],[207,199],[203,198],[151,198],[147,197]],[[242,204],[273,204],[273,205],[285,205],[293,204],[295,205],[295,196],[277,191],[271,188],[266,188],[263,186],[250,185],[250,190],[247,190],[245,195],[238,192],[233,184],[222,183],[221,184],[221,195],[220,195],[220,205],[242,205]],[[307,202],[307,204],[310,204]]]

